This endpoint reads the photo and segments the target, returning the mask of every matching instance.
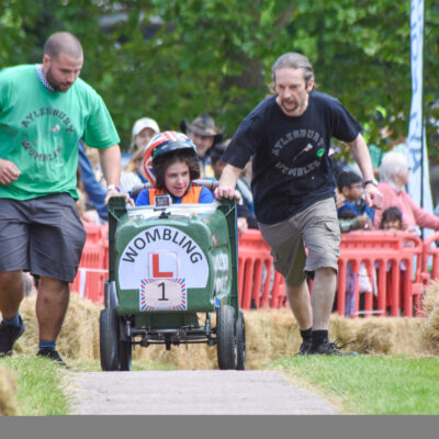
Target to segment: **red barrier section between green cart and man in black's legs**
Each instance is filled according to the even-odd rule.
[[[274,270],[270,247],[259,230],[250,229],[238,243],[238,294],[243,309],[283,306],[285,285]]]

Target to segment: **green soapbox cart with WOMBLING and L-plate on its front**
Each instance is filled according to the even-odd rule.
[[[171,204],[161,196],[154,206],[131,207],[112,198],[109,259],[102,370],[127,371],[135,345],[156,344],[216,345],[219,369],[245,369],[234,201]]]

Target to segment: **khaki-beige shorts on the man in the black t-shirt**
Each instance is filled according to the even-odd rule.
[[[340,227],[334,199],[319,201],[282,223],[259,223],[259,229],[289,286],[300,285],[306,272],[338,270]]]

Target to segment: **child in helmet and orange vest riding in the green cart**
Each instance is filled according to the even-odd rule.
[[[156,195],[168,194],[172,203],[211,203],[212,192],[192,180],[200,177],[195,145],[184,134],[167,131],[157,134],[146,153],[153,157],[154,188],[143,190],[136,205],[154,205]],[[145,154],[146,154],[145,153]]]

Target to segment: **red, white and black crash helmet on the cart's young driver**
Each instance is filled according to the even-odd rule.
[[[144,153],[143,165],[147,179],[155,184],[154,164],[161,157],[183,150],[198,160],[196,147],[185,134],[177,131],[165,131],[155,135],[146,145]]]

